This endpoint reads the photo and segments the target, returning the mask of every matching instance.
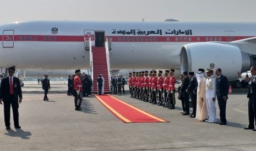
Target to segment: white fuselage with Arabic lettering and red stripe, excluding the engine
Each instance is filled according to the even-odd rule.
[[[85,30],[94,30],[111,39],[111,69],[179,69],[184,44],[254,37],[255,27],[255,22],[16,22],[0,26],[0,67],[89,68]]]

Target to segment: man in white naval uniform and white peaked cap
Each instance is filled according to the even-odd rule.
[[[216,78],[213,77],[213,69],[206,68],[207,80],[206,80],[206,107],[208,110],[209,119],[206,122],[216,123],[216,107],[215,107],[215,98],[216,98]]]

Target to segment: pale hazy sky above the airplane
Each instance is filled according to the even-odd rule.
[[[256,21],[255,0],[1,0],[0,24],[25,20]]]

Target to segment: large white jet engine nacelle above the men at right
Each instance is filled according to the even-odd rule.
[[[221,68],[228,80],[237,79],[237,71],[249,71],[254,65],[250,54],[244,53],[236,45],[213,42],[186,44],[181,49],[181,71],[197,72],[198,68],[214,66]]]

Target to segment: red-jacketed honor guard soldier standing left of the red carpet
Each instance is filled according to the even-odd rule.
[[[81,92],[82,92],[82,82],[81,82],[81,71],[77,69],[75,71],[74,78],[74,94],[75,94],[75,111],[81,110]],[[79,101],[78,101],[79,99]]]

